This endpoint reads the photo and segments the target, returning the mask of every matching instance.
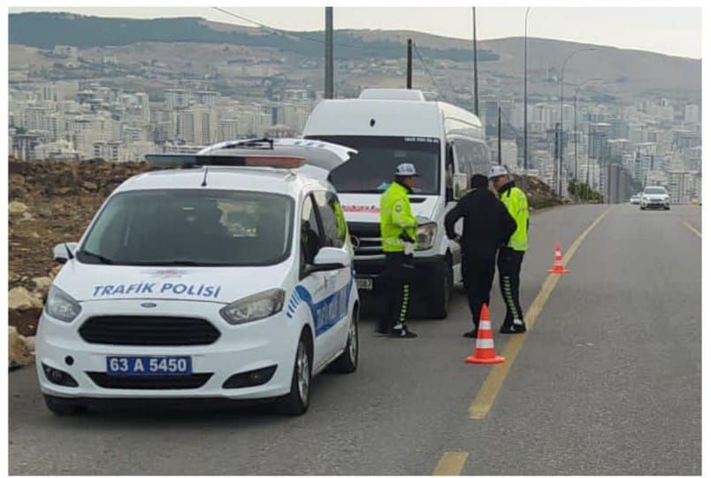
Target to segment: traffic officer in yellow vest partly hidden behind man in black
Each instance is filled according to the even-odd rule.
[[[498,191],[499,199],[516,221],[516,231],[508,239],[508,244],[501,246],[496,261],[499,268],[501,295],[506,303],[506,319],[499,332],[523,334],[526,331],[526,324],[518,295],[521,263],[528,248],[528,199],[523,190],[516,188],[505,167],[493,166],[489,179],[493,182],[493,188]]]

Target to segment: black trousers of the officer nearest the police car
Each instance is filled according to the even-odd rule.
[[[386,252],[386,283],[390,297],[386,314],[380,316],[378,332],[387,333],[396,324],[405,325],[409,312],[409,287],[414,266],[412,256]]]

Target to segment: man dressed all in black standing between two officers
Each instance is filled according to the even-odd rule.
[[[462,275],[464,289],[469,299],[474,329],[464,334],[476,337],[481,306],[489,305],[493,272],[496,269],[496,251],[516,231],[516,221],[487,186],[483,174],[471,176],[470,192],[447,212],[445,228],[447,237],[462,246]],[[463,218],[463,235],[455,233],[455,223]]]

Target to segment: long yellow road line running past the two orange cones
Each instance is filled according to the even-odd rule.
[[[585,231],[583,231],[583,233],[579,235],[577,239],[570,245],[570,249],[563,256],[563,262],[565,264],[570,261],[570,259],[576,253],[577,249],[580,247],[580,244],[582,244],[585,240],[585,237],[590,234],[590,231],[592,231],[593,228],[600,223],[600,221],[608,214],[609,211],[610,210],[608,208],[604,212],[602,212],[600,216],[598,216],[597,219],[594,220],[593,223],[589,227],[587,227]],[[548,275],[545,281],[543,281],[543,285],[540,288],[539,295],[536,296],[535,299],[533,299],[533,302],[531,303],[531,306],[529,307],[528,311],[526,311],[526,315],[524,317],[526,328],[528,328],[529,331],[536,323],[540,312],[543,310],[543,306],[546,305],[548,297],[550,297],[551,292],[553,292],[555,284],[558,283],[560,277],[560,275],[551,274]],[[528,334],[512,335],[511,338],[508,339],[508,342],[506,343],[506,348],[504,349],[503,353],[501,353],[501,355],[506,358],[506,361],[500,365],[492,366],[492,369],[489,371],[489,374],[486,375],[486,379],[482,384],[481,388],[479,389],[477,397],[474,397],[474,401],[472,401],[469,406],[470,419],[481,420],[485,418],[486,414],[489,412],[489,410],[491,410],[493,402],[496,399],[496,396],[499,394],[499,390],[501,390],[503,382],[506,380],[508,370],[511,368],[514,361],[516,361],[516,356],[518,355],[518,352],[521,351],[521,348],[524,346],[527,336]]]

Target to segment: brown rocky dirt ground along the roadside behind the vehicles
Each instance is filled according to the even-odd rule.
[[[13,159],[9,164],[9,323],[20,336],[31,336],[60,268],[52,260],[52,248],[78,241],[111,191],[128,177],[148,171],[149,165]],[[533,207],[558,204],[547,185],[536,179],[530,179],[529,196]]]

